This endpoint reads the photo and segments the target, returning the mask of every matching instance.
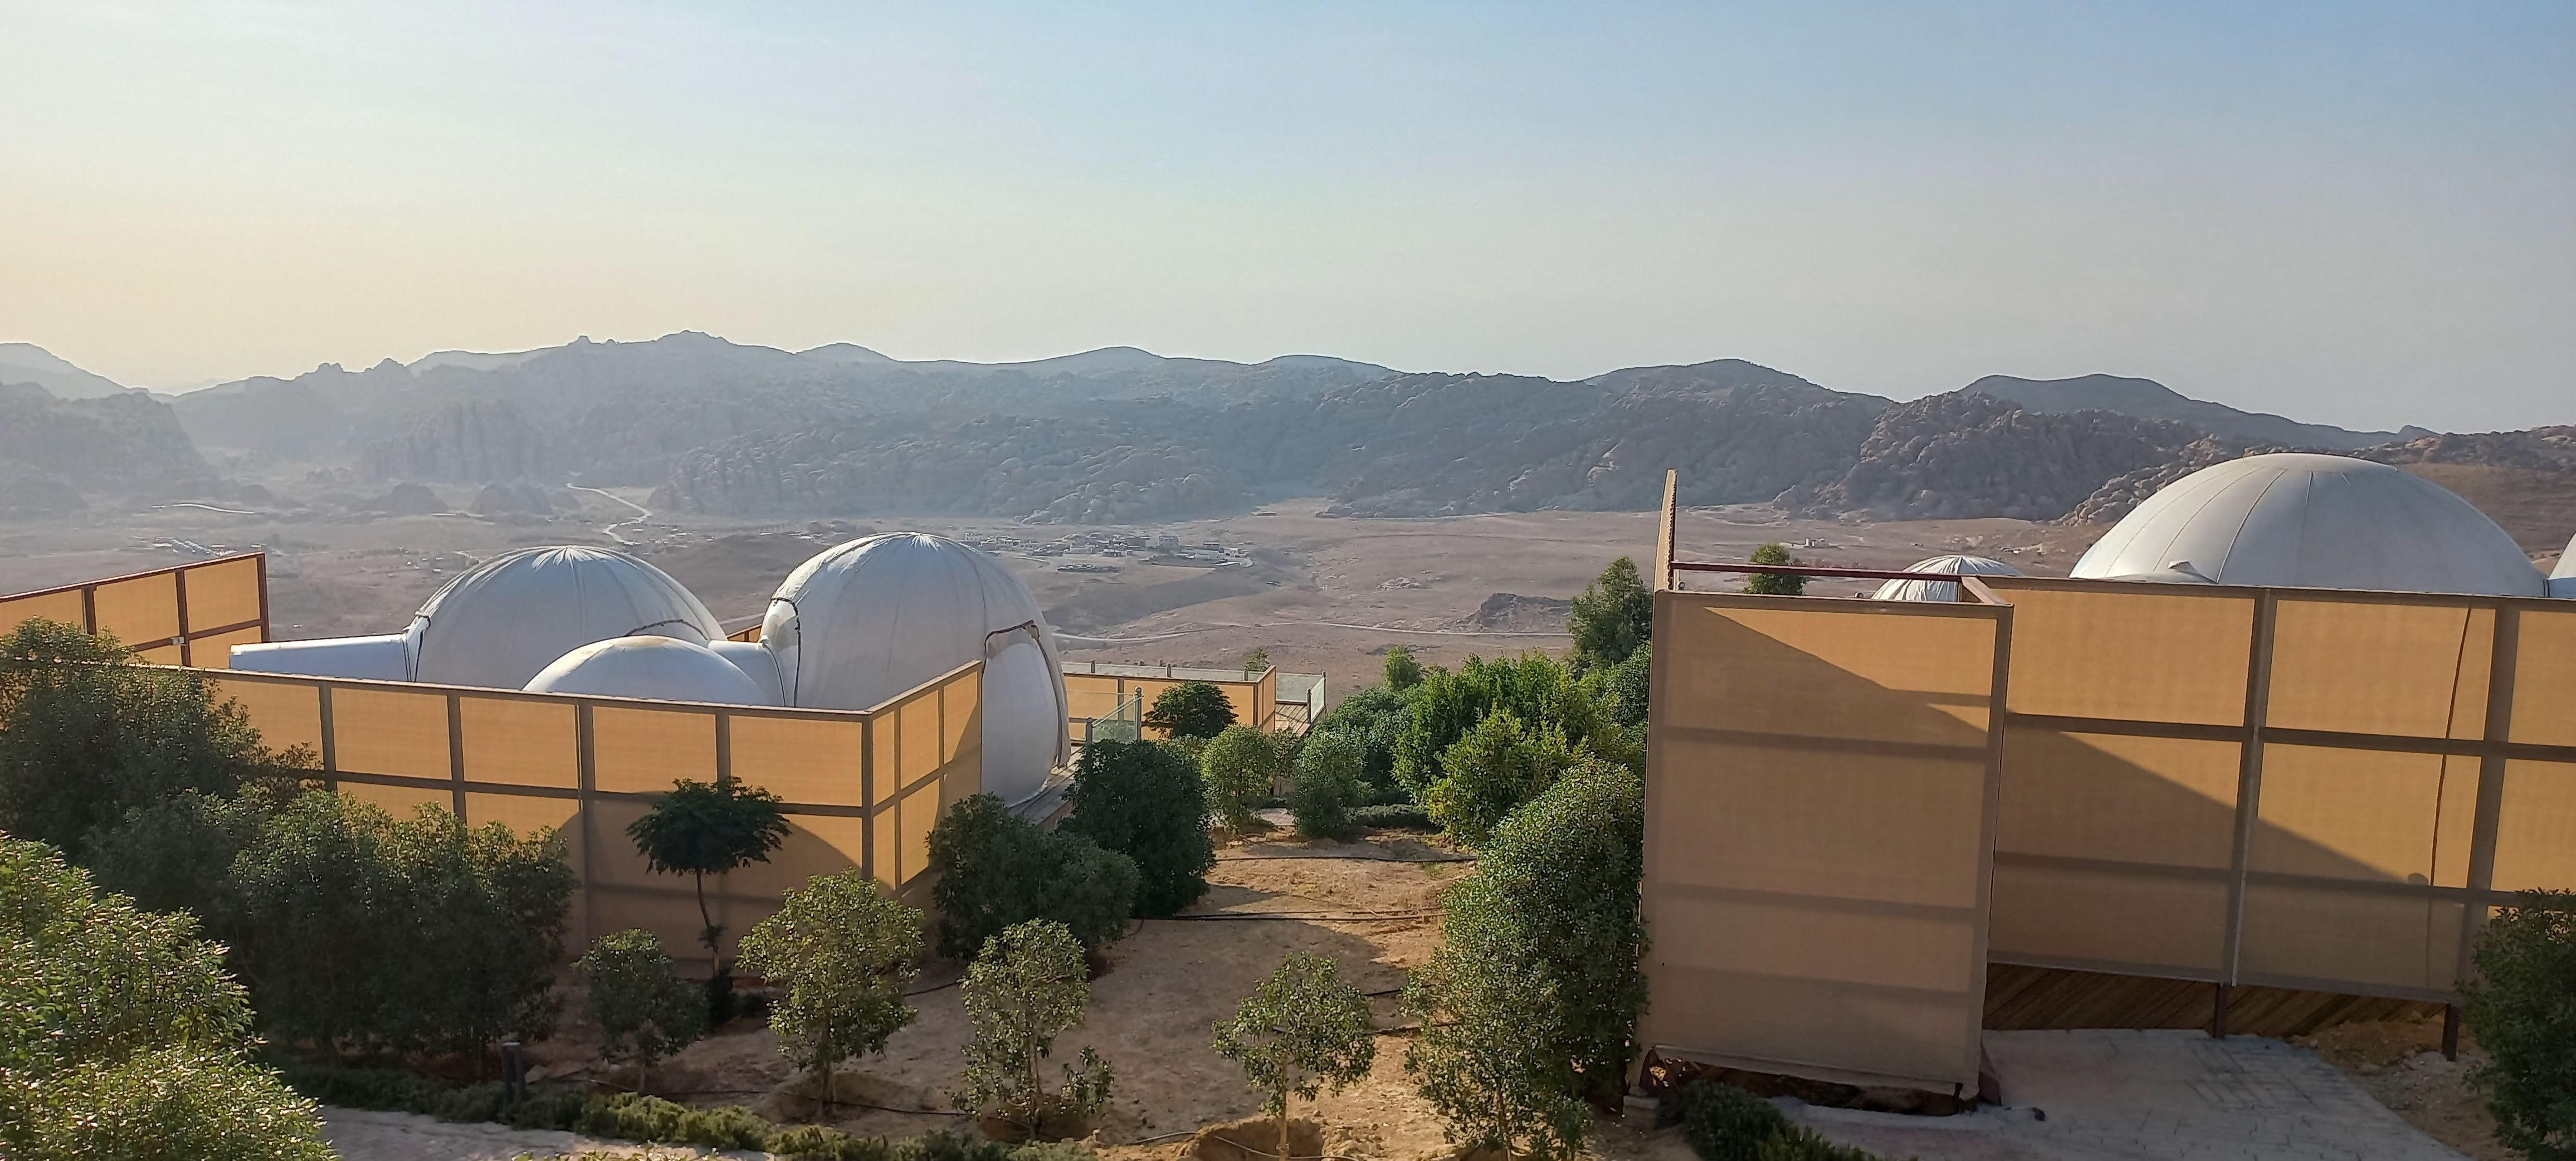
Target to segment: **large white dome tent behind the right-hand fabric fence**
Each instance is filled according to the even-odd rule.
[[[2349,456],[2272,453],[2166,484],[2074,577],[2537,597],[2540,569],[2439,484]]]

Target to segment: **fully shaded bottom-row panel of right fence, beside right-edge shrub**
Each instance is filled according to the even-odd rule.
[[[2403,891],[2246,883],[2241,978],[2329,983],[2329,991],[2450,991],[2460,904]],[[2313,986],[2313,983],[2311,983]]]

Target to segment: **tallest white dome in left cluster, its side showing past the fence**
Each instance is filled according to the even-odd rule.
[[[786,705],[863,711],[984,662],[984,790],[1020,803],[1069,759],[1064,674],[1038,602],[1002,561],[945,535],[827,548],[770,597],[760,644]]]

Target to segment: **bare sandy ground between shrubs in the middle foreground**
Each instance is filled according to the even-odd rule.
[[[1458,880],[1463,862],[1394,862],[1445,857],[1412,837],[1376,837],[1352,844],[1252,842],[1229,844],[1211,875],[1213,891],[1188,914],[1329,914],[1391,919],[1167,919],[1144,922],[1113,945],[1108,973],[1092,983],[1090,1019],[1059,1040],[1059,1058],[1097,1048],[1115,1068],[1110,1112],[1097,1143],[1113,1156],[1180,1156],[1188,1133],[1260,1112],[1260,1097],[1242,1071],[1218,1058],[1213,1025],[1231,1014],[1252,986],[1288,952],[1321,952],[1342,976],[1376,999],[1378,1063],[1368,1081],[1327,1097],[1301,1115],[1324,1125],[1327,1143],[1370,1158],[1445,1156],[1430,1107],[1404,1079],[1406,1037],[1396,1032],[1394,991],[1404,971],[1430,958],[1440,942],[1437,898]],[[966,1012],[951,986],[953,965],[925,973],[912,1004],[920,1017],[894,1035],[881,1058],[842,1071],[842,1102],[873,1107],[819,1110],[814,1086],[778,1055],[778,1037],[755,1022],[734,1022],[659,1063],[647,1084],[690,1104],[750,1104],[773,1120],[819,1120],[860,1135],[914,1135],[956,1125],[948,1091],[956,1086],[966,1043]],[[616,1079],[595,1058],[587,1035],[567,1035],[533,1048],[541,1076]],[[1180,1135],[1175,1135],[1180,1133]]]

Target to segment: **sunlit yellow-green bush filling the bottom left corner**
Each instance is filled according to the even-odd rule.
[[[245,1058],[250,1004],[185,914],[0,839],[0,1153],[325,1161],[319,1107]]]

